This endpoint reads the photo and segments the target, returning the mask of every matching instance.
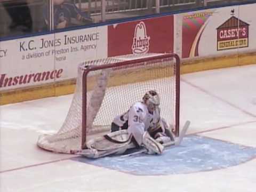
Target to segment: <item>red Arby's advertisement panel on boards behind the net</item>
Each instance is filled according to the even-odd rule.
[[[108,26],[108,57],[173,52],[173,15]]]

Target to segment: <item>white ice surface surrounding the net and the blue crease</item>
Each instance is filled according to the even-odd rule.
[[[180,124],[189,119],[189,134],[198,133],[198,136],[218,139],[221,143],[233,142],[253,151],[256,148],[255,74],[256,65],[250,65],[182,75]],[[233,157],[237,162],[233,166],[211,170],[212,165],[218,163],[214,157],[212,164],[207,164],[210,171],[204,172],[134,175],[75,161],[74,155],[54,154],[37,148],[39,134],[58,131],[71,99],[72,95],[67,95],[0,107],[1,192],[254,192],[256,189],[255,158],[241,163],[241,156]],[[194,161],[195,166],[190,168],[202,165],[197,157],[211,161],[211,158],[206,159],[207,155],[204,158],[204,151],[210,153],[214,148],[210,143],[202,145],[205,149],[201,156],[179,151],[179,155],[186,157],[188,154],[189,161]],[[231,153],[232,149],[227,151]],[[245,157],[250,153],[247,151],[242,155]],[[154,159],[157,164],[158,159]],[[166,169],[171,170],[171,166],[175,166],[175,170],[182,164],[170,162]]]

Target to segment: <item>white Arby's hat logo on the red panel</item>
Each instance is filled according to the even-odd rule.
[[[143,21],[140,21],[134,30],[132,53],[147,53],[149,51],[149,40],[150,37],[147,35],[146,25]]]

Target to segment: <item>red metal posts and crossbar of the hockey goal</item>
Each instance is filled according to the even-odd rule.
[[[134,59],[134,60],[127,60],[127,61],[119,61],[115,63],[100,65],[100,66],[88,66],[83,71],[82,76],[82,149],[86,149],[86,122],[87,122],[87,114],[86,114],[86,107],[87,107],[87,75],[90,71],[95,70],[102,70],[111,67],[122,67],[122,66],[129,66],[134,63],[143,63],[150,60],[157,60],[157,59],[165,59],[165,58],[175,58],[175,137],[179,137],[179,121],[180,121],[180,58],[178,54],[175,53],[167,53],[163,55],[157,55],[148,58],[142,59]],[[145,65],[145,63],[141,64]]]

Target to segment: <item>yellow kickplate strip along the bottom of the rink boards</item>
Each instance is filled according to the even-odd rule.
[[[216,58],[189,59],[182,61],[181,74],[251,64],[256,64],[256,52],[226,55]],[[75,79],[71,79],[55,84],[29,87],[27,89],[2,91],[0,92],[0,105],[72,94],[75,90],[75,84]]]

